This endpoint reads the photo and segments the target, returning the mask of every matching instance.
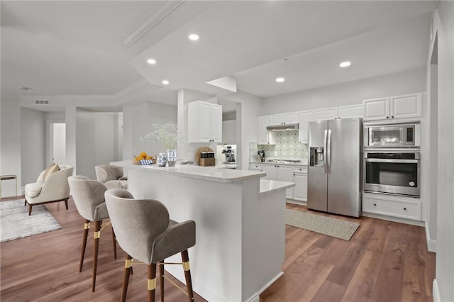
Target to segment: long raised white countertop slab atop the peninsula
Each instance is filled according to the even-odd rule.
[[[140,169],[150,171],[150,173],[170,174],[179,177],[189,177],[218,182],[240,182],[250,179],[260,179],[265,177],[265,172],[225,169],[220,167],[201,167],[190,164],[175,164],[175,167],[157,167],[157,164],[132,164],[130,160],[121,162],[111,162],[116,166],[127,169]]]

